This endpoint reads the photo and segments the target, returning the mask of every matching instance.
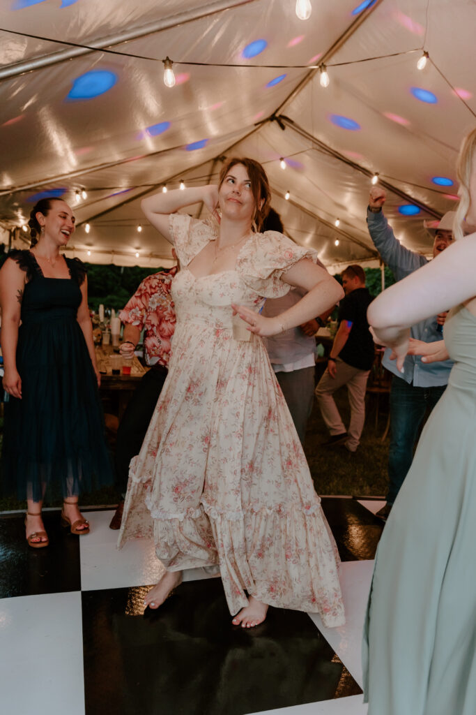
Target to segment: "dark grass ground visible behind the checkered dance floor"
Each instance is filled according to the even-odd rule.
[[[375,401],[368,404],[368,415],[357,452],[350,454],[343,446],[323,448],[328,439],[320,411],[314,403],[305,440],[305,455],[318,494],[380,496],[387,490],[388,438],[382,443],[388,417],[388,398],[381,396],[380,416],[375,429]],[[375,398],[373,398],[375,400]],[[336,393],[336,403],[348,425],[348,400],[345,388]],[[0,435],[1,437],[1,435]],[[81,505],[116,504],[118,493],[113,487],[81,495]],[[61,506],[61,499],[45,500],[44,506]],[[25,502],[15,498],[0,498],[0,511],[24,509]]]

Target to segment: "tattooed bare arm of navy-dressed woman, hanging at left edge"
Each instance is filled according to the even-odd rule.
[[[16,345],[20,325],[25,272],[8,258],[0,270],[1,352],[4,356],[3,385],[9,395],[21,399],[21,377],[16,369]]]

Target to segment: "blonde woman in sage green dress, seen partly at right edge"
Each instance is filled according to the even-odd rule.
[[[363,642],[368,715],[476,711],[476,129],[458,164],[454,245],[369,307],[397,365],[410,350],[455,365],[380,539]],[[466,220],[466,223],[464,221]],[[450,310],[444,342],[409,327]]]

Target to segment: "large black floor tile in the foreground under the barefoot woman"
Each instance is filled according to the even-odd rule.
[[[245,630],[220,579],[143,614],[146,591],[82,593],[88,715],[244,715],[361,692],[305,613],[270,608]]]

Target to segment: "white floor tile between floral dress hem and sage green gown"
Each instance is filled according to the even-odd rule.
[[[338,654],[340,660],[362,687],[362,631],[367,607],[370,581],[372,580],[373,561],[345,561],[341,564],[340,583],[342,584],[345,626],[325,628],[320,616],[309,613],[326,641]],[[307,715],[307,714],[306,714]]]

